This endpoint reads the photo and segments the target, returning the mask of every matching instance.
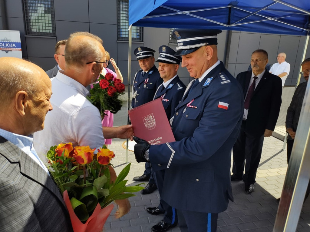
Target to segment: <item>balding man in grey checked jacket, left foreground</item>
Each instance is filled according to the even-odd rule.
[[[52,110],[51,81],[29,61],[2,57],[0,64],[0,231],[72,231],[31,136]]]

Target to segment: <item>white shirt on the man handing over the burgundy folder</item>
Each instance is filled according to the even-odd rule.
[[[33,145],[38,156],[46,161],[51,146],[73,143],[75,146],[100,148],[104,144],[99,110],[86,99],[88,90],[61,71],[52,82],[51,104],[44,129],[34,133]]]

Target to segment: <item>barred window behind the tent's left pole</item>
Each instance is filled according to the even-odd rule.
[[[128,0],[117,1],[117,39],[129,39],[129,23],[128,23]],[[142,41],[143,27],[131,27],[131,39],[133,41]]]

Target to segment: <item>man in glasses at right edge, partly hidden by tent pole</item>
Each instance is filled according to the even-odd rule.
[[[288,133],[287,136],[287,163],[290,161],[290,155],[292,152],[295,134],[297,130],[297,124],[299,120],[299,115],[301,111],[301,107],[303,104],[303,97],[305,96],[308,78],[309,78],[309,71],[310,71],[310,57],[305,59],[301,63],[302,71],[300,74],[305,78],[305,82],[299,84],[294,92],[292,101],[290,106],[287,109],[286,113],[286,120],[285,120],[285,127],[286,132]],[[308,197],[309,191],[307,190],[306,197]]]

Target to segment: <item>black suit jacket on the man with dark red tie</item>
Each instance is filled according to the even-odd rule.
[[[244,98],[250,84],[252,71],[241,72],[237,80],[242,86]],[[265,129],[274,130],[281,107],[281,78],[265,70],[262,79],[255,88],[246,121],[246,132],[253,136],[262,136]]]

